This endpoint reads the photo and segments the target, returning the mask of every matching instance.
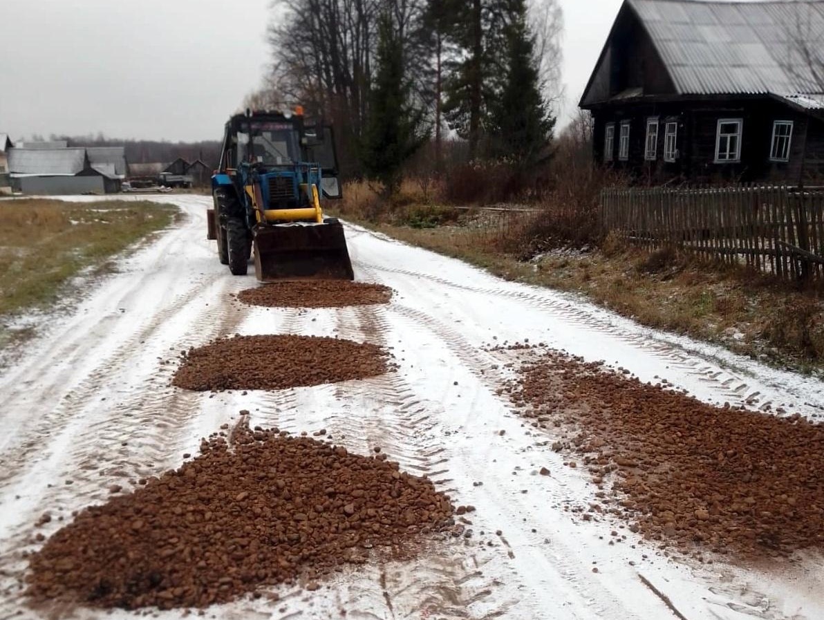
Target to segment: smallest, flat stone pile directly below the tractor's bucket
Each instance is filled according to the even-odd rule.
[[[348,280],[273,282],[248,288],[237,299],[269,308],[342,308],[348,305],[388,304],[392,289],[381,284]]]

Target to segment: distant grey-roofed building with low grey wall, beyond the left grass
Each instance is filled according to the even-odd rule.
[[[8,151],[12,188],[34,195],[116,193],[120,179],[115,164],[91,165],[85,148]]]

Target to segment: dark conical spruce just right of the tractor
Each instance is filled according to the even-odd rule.
[[[378,23],[375,62],[361,158],[367,177],[380,181],[392,196],[400,188],[402,166],[427,141],[428,128],[424,127],[424,110],[412,101],[403,41],[388,12]]]

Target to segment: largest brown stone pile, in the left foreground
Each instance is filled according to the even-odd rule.
[[[315,581],[369,549],[414,554],[450,529],[427,478],[278,429],[236,427],[145,486],[82,510],[30,556],[27,594],[100,608],[202,608]],[[446,534],[440,534],[445,536]]]

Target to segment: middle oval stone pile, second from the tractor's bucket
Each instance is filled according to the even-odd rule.
[[[197,391],[288,389],[384,374],[389,354],[374,344],[320,336],[234,336],[183,356],[172,383]]]

